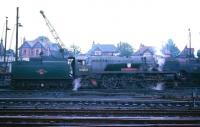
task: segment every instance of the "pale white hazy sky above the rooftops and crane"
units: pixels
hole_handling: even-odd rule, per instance
[[[140,43],[161,47],[172,38],[182,50],[188,44],[200,49],[200,0],[0,0],[0,35],[8,16],[8,43],[15,46],[12,32],[19,6],[19,41],[47,36],[54,41],[39,13],[43,10],[66,47],[75,44],[83,52],[92,42]],[[2,34],[3,33],[3,34]],[[9,44],[8,44],[9,45]],[[9,46],[8,46],[9,47]]]

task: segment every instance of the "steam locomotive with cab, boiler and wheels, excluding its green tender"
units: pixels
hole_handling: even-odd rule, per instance
[[[138,88],[174,82],[176,73],[158,71],[153,57],[90,56],[77,58],[76,78],[81,79],[82,87],[89,84],[107,89]]]

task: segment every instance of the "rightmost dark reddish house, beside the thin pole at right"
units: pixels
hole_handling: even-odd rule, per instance
[[[191,54],[190,54],[191,53]],[[194,57],[194,48],[188,48],[185,46],[183,51],[179,54],[179,58],[189,58],[189,57]]]

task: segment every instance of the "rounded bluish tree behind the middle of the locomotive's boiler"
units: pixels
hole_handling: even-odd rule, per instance
[[[129,57],[133,54],[133,48],[130,44],[126,42],[120,42],[117,44],[117,51],[120,53],[120,56]]]

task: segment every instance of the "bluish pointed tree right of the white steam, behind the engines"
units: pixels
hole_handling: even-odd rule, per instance
[[[177,48],[172,39],[168,39],[167,43],[162,47],[161,52],[163,54],[170,54],[172,57],[176,57],[180,53],[180,50]]]

